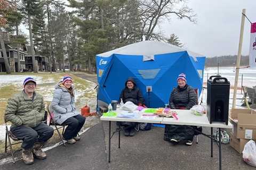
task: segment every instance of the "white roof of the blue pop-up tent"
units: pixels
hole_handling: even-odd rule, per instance
[[[185,48],[177,47],[169,43],[163,43],[159,41],[140,41],[139,43],[133,43],[124,47],[113,49],[106,53],[98,54],[98,56],[109,57],[112,54],[154,56],[157,54],[176,53],[184,51],[187,51],[188,55],[193,57],[195,61],[197,61],[196,57],[204,57],[204,55],[190,52]]]

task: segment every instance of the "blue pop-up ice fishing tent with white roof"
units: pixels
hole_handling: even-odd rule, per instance
[[[133,77],[148,107],[169,103],[177,77],[185,73],[187,83],[202,91],[205,56],[171,44],[141,41],[96,56],[98,100],[118,100],[125,81]],[[148,92],[148,89],[152,91]]]

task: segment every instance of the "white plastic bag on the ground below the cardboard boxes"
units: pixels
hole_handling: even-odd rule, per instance
[[[253,140],[247,142],[243,150],[244,162],[256,167],[256,143]]]

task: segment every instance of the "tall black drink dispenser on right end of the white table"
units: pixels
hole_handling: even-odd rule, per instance
[[[213,75],[207,80],[206,113],[210,123],[228,124],[230,83],[220,75]]]

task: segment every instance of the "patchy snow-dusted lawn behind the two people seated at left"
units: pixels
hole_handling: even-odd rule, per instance
[[[54,86],[57,84],[63,77],[63,75],[69,74],[73,78],[73,82],[76,89],[76,107],[77,111],[80,112],[80,108],[85,106],[90,99],[94,99],[96,97],[96,91],[93,90],[95,84],[89,81],[86,81],[82,78],[76,77],[72,73],[0,73],[0,75],[28,75],[29,77],[42,77],[43,83],[38,83],[36,87],[36,91],[44,97],[45,103],[51,102],[51,97],[53,96]],[[4,123],[4,112],[7,105],[7,101],[14,94],[20,92],[22,89],[22,84],[3,84],[0,87],[0,125]],[[95,106],[95,102],[91,100],[91,106]],[[86,125],[85,125],[86,126]],[[48,143],[54,144],[59,142],[60,138],[57,132],[54,131],[53,137],[49,140]],[[19,150],[20,145],[14,145],[14,150]],[[4,152],[4,141],[0,141],[0,153]]]

